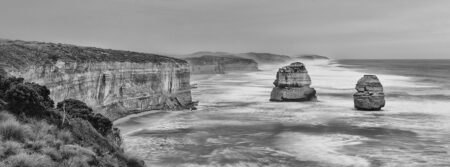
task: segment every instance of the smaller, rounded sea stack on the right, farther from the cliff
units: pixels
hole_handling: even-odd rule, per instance
[[[364,75],[356,84],[353,95],[355,108],[366,111],[379,111],[384,107],[383,85],[376,75]]]

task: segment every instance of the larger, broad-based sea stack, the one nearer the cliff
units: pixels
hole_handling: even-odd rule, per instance
[[[277,79],[273,82],[275,87],[270,94],[270,101],[315,101],[316,90],[310,88],[311,78],[305,65],[295,62],[280,68]]]

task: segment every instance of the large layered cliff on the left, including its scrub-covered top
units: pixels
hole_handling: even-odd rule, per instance
[[[82,100],[110,119],[191,104],[184,60],[128,51],[0,42],[0,71],[47,86],[56,102]]]

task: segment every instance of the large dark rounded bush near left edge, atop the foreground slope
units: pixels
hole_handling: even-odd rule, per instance
[[[37,116],[42,114],[45,106],[41,103],[42,97],[26,84],[13,85],[6,91],[5,100],[8,108],[15,114],[24,113],[26,115]]]

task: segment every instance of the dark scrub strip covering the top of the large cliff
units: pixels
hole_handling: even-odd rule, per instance
[[[12,66],[17,69],[31,64],[55,63],[57,60],[68,62],[187,63],[184,60],[149,53],[19,40],[0,40],[0,60],[2,60],[0,68]],[[4,71],[0,70],[0,75],[2,73]]]

